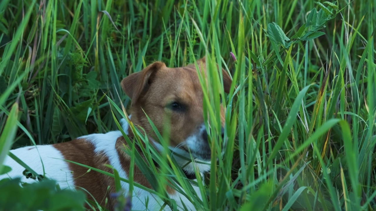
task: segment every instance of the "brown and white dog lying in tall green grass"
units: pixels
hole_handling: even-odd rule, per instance
[[[206,77],[205,57],[197,60],[197,64]],[[224,92],[228,93],[232,80],[223,69],[222,73]],[[180,155],[174,158],[188,179],[197,182],[195,168],[200,173],[209,172],[211,148],[203,118],[203,90],[194,64],[168,68],[163,62],[154,62],[142,71],[125,77],[121,81],[121,87],[131,99],[130,121],[136,127],[144,129],[151,145],[157,151],[162,150],[162,145],[156,141],[158,139],[155,139],[156,136],[145,113],[160,133],[164,129],[165,116],[168,114],[171,122],[169,148],[174,151],[174,154]],[[221,105],[220,111],[216,112],[220,112],[221,136],[223,137],[225,109]],[[120,123],[124,132],[132,140],[134,135],[127,122],[122,119]],[[11,150],[11,152],[36,173],[42,175],[45,173],[45,177],[57,181],[61,189],[84,188],[90,193],[87,194],[88,199],[96,200],[107,209],[114,209],[117,201],[110,197],[110,193],[116,192],[114,178],[94,170],[88,172],[87,168],[64,161],[64,159],[113,173],[112,169],[104,165],[110,164],[118,171],[121,178],[127,179],[130,156],[124,152],[124,145],[128,146],[122,133],[110,131],[105,134],[90,134],[53,145],[26,146]],[[137,150],[139,151],[139,147]],[[140,155],[143,155],[142,152]],[[187,158],[192,156],[194,162],[188,162],[182,156]],[[36,181],[23,176],[24,167],[9,156],[6,157],[4,164],[10,166],[12,170],[5,175],[0,175],[0,179],[21,177],[21,182]],[[134,167],[133,177],[134,182],[152,189],[149,181],[137,166]],[[129,184],[121,181],[121,188],[127,191]],[[193,189],[202,199],[199,187],[193,185]],[[190,200],[173,188],[167,186],[166,191],[170,199],[176,201],[178,209],[184,207],[190,210],[197,209]],[[134,187],[131,197],[132,210],[159,210],[164,204],[162,199],[155,194],[138,187]],[[169,206],[165,206],[164,209],[171,210]]]

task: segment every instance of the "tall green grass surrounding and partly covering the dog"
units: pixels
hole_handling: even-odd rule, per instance
[[[155,60],[175,67],[206,56],[204,113],[220,159],[201,187],[208,199],[186,190],[198,208],[376,209],[375,11],[373,1],[2,0],[0,163],[9,140],[17,148],[117,129],[121,102],[129,106],[122,78]],[[222,158],[215,63],[234,79],[222,95]],[[186,189],[170,155],[150,147],[149,166],[126,151],[155,184],[168,175]],[[150,191],[165,198],[160,187]]]

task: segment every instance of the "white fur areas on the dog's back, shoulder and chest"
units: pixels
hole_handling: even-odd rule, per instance
[[[129,116],[130,117],[130,116]],[[124,119],[120,121],[124,132],[127,133],[129,125]],[[119,176],[122,178],[127,179],[128,176],[126,172],[122,169],[120,160],[115,149],[115,143],[118,137],[122,136],[120,131],[111,131],[106,134],[90,134],[87,136],[82,136],[80,139],[85,139],[91,142],[96,153],[104,153],[109,161],[111,166],[113,166],[119,173]],[[160,146],[160,145],[159,145]],[[30,150],[29,150],[30,149]],[[180,150],[180,149],[179,149]],[[36,173],[43,175],[43,168],[42,162],[44,165],[45,176],[47,178],[54,179],[58,182],[62,189],[64,188],[74,188],[74,180],[73,174],[69,169],[68,163],[65,162],[63,159],[61,152],[58,151],[53,145],[37,145],[37,146],[27,146],[23,148],[18,148],[11,150],[11,152],[16,155],[20,160],[26,163],[31,169],[33,169]],[[179,151],[180,152],[180,151]],[[186,152],[184,152],[186,153]],[[189,158],[189,156],[188,156]],[[176,160],[179,163],[182,163],[181,158],[177,158]],[[25,170],[20,164],[14,161],[11,157],[7,156],[5,158],[6,166],[12,167],[11,172],[6,175],[0,175],[0,179],[9,177],[9,178],[16,178],[21,177],[22,182],[36,182],[34,179],[26,179],[23,176],[22,172]],[[205,165],[200,164],[199,167],[204,167]],[[206,165],[205,171],[210,168],[210,165]],[[192,167],[193,169],[193,167]],[[121,181],[121,187],[123,188],[125,193],[128,193],[129,184],[126,182]],[[194,190],[200,194],[199,187],[193,185]],[[148,210],[159,210],[163,205],[163,201],[156,196],[155,194],[151,194],[141,188],[134,187],[133,195],[132,195],[132,210],[146,210],[145,201],[149,198],[149,203],[147,205]],[[175,194],[170,195],[171,199],[174,199],[177,203],[179,209],[183,209],[182,204],[184,204],[188,209],[196,210],[193,204],[182,194],[175,191]],[[171,210],[169,206],[165,206],[164,210]]]

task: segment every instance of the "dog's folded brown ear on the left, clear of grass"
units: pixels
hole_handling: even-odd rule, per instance
[[[154,62],[142,71],[132,73],[121,81],[123,91],[132,99],[131,105],[134,105],[141,93],[147,90],[155,72],[165,66],[163,62]]]

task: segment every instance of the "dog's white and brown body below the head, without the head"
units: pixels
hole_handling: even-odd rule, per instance
[[[123,119],[121,123],[123,130],[128,131],[127,122]],[[121,178],[128,179],[129,164],[127,166],[127,163],[130,163],[130,158],[122,152],[123,144],[126,142],[121,132],[111,131],[105,134],[90,134],[55,145],[27,146],[11,150],[11,152],[36,173],[43,174],[44,167],[45,177],[55,180],[61,189],[85,188],[103,206],[107,197],[106,207],[111,210],[116,203],[116,199],[110,197],[110,193],[116,192],[114,179],[94,170],[87,172],[87,168],[66,162],[64,159],[112,173],[111,169],[103,166],[103,164],[109,164],[118,171]],[[21,182],[36,182],[35,179],[22,175],[25,168],[9,156],[6,157],[4,164],[11,166],[12,170],[7,175],[0,175],[0,179],[21,177]],[[134,181],[152,189],[146,178],[136,168]],[[107,189],[108,187],[109,189]],[[121,181],[121,188],[129,190],[129,184]],[[163,205],[162,199],[155,194],[138,187],[133,188],[132,210],[159,210]],[[197,186],[193,186],[193,188],[200,193]],[[195,210],[193,204],[185,196],[171,188],[167,189],[170,190],[170,193],[167,191],[168,196],[176,200],[180,209],[184,204],[188,209]],[[89,197],[91,200],[94,200],[93,198]],[[170,207],[165,206],[164,210],[170,210]]]

